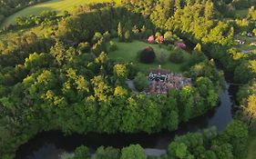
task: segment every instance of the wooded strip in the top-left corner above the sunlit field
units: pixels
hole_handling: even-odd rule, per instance
[[[5,18],[9,15],[15,14],[15,12],[30,6],[36,5],[47,0],[2,0],[0,1],[0,24],[5,21]]]

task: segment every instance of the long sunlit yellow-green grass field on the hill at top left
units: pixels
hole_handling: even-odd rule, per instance
[[[26,7],[14,15],[10,15],[5,19],[5,22],[1,25],[1,27],[4,25],[15,24],[15,18],[18,16],[39,15],[42,11],[45,10],[56,11],[58,15],[61,15],[66,10],[71,12],[77,5],[98,2],[110,2],[110,0],[51,0],[42,4]],[[115,2],[117,2],[119,5],[121,0],[115,0]]]

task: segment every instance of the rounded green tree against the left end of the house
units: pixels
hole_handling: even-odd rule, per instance
[[[148,87],[147,76],[142,73],[138,73],[134,78],[134,86],[139,92],[144,91]]]

